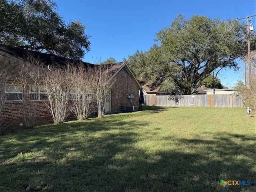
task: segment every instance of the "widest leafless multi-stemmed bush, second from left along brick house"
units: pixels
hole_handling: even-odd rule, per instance
[[[53,66],[45,73],[44,85],[48,96],[47,105],[55,124],[63,123],[70,111],[68,102],[70,100],[70,67]]]

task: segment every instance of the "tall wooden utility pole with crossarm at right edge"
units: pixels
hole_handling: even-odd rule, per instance
[[[247,46],[248,46],[248,74],[249,74],[249,88],[252,86],[252,69],[251,69],[251,54],[250,54],[250,28],[249,28],[249,18],[254,17],[256,15],[246,16],[244,18],[236,19],[247,19]],[[247,86],[246,82],[246,62],[244,63],[244,80],[245,86]]]

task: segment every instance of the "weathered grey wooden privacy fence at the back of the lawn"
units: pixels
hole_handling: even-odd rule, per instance
[[[178,102],[169,95],[144,95],[144,104],[148,106],[198,106],[198,107],[242,107],[243,99],[234,94],[219,95],[182,95]]]

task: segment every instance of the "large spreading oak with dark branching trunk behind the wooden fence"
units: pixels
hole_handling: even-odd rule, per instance
[[[174,82],[182,94],[192,94],[214,70],[238,69],[236,59],[247,54],[246,25],[237,20],[179,15],[156,36],[164,57],[180,68]]]

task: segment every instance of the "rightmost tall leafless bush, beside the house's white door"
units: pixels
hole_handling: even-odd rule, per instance
[[[105,112],[105,103],[108,90],[112,87],[115,79],[109,70],[109,65],[97,65],[90,70],[92,75],[92,87],[94,93],[94,101],[97,103],[98,117],[102,117]]]

